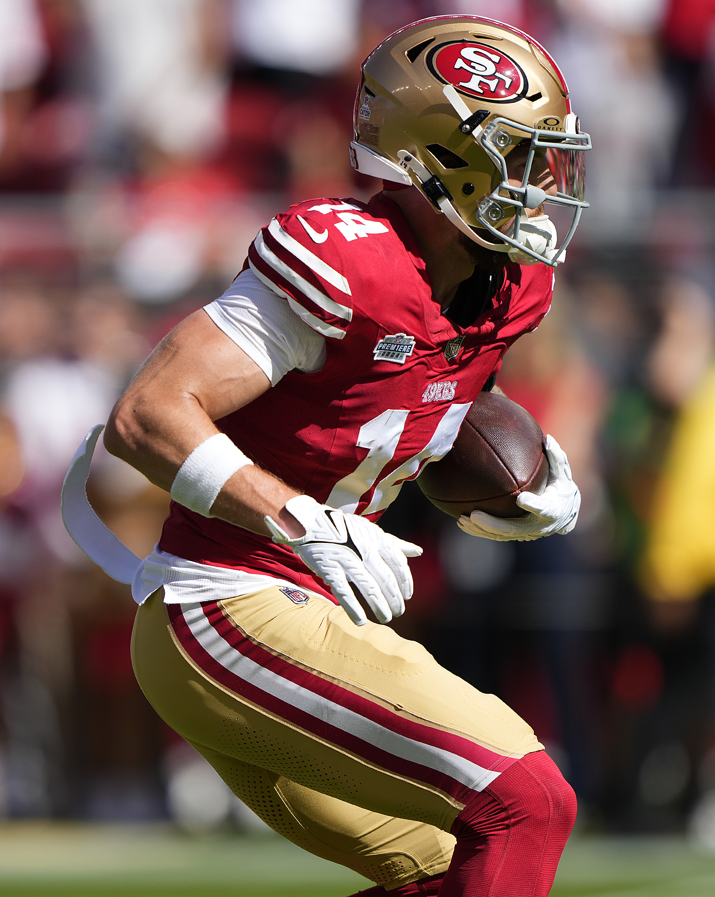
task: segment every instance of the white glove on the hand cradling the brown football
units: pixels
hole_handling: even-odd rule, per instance
[[[541,536],[558,533],[565,536],[576,526],[581,507],[581,492],[571,477],[571,467],[564,449],[553,436],[545,444],[548,458],[547,488],[541,495],[521,492],[516,499],[520,508],[530,511],[524,517],[492,517],[483,510],[462,516],[457,526],[469,536],[496,539],[499,542],[530,542]]]

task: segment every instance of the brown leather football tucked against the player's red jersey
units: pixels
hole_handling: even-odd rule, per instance
[[[495,517],[521,517],[520,492],[546,489],[544,434],[534,418],[499,393],[479,393],[452,449],[426,465],[419,487],[452,517],[485,510]]]

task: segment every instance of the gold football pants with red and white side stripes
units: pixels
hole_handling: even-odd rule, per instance
[[[455,823],[467,852],[483,853],[461,816],[487,794],[473,777],[495,788],[541,755],[502,701],[327,601],[295,605],[278,588],[202,605],[161,598],[139,608],[132,650],[159,715],[272,829],[389,893],[435,893]],[[482,893],[465,890],[459,856],[468,881],[460,873],[450,893]]]

